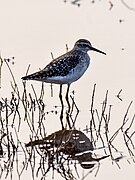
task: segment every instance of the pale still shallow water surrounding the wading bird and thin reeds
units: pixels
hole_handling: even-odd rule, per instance
[[[58,169],[53,171],[51,168],[44,178],[48,156],[44,159],[46,154],[38,147],[25,147],[30,141],[61,130],[59,86],[53,85],[51,97],[50,84],[44,84],[44,91],[41,91],[42,83],[29,81],[23,98],[21,77],[25,75],[29,64],[29,73],[42,69],[52,59],[50,52],[57,57],[65,53],[66,43],[71,49],[80,38],[89,39],[93,46],[105,51],[107,56],[90,52],[90,68],[70,88],[69,101],[73,106],[70,113],[67,113],[68,106],[64,98],[66,86],[63,87],[63,123],[68,128],[69,119],[71,125],[92,141],[93,157],[110,157],[101,160],[100,164],[96,162],[94,169],[86,170],[80,167],[77,160],[66,161],[63,158],[67,158],[67,154],[61,154],[59,157],[62,162],[65,160],[63,164],[67,170],[65,176],[70,179],[72,175],[76,179],[96,176],[97,180],[101,180],[114,179],[115,174],[117,179],[133,179],[134,11],[127,9],[121,2],[114,4],[111,11],[108,2],[91,4],[82,1],[79,8],[63,1],[3,1],[0,4],[1,56],[11,59],[8,65],[19,89],[18,96],[9,68],[4,62],[0,89],[3,105],[0,111],[3,149],[0,158],[1,179],[63,179],[62,167],[57,164],[57,159],[54,159],[54,167]],[[124,21],[120,23],[119,19]]]

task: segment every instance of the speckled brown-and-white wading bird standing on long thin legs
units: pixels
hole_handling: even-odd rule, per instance
[[[53,59],[43,70],[26,75],[22,79],[60,84],[60,99],[62,85],[67,84],[66,100],[69,105],[68,92],[70,85],[81,78],[89,67],[90,56],[88,51],[96,51],[106,55],[105,52],[93,47],[87,39],[79,39],[75,42],[72,50]]]

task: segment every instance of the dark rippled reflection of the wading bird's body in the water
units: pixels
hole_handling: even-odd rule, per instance
[[[55,155],[67,158],[67,161],[77,160],[82,168],[90,169],[100,160],[107,158],[103,156],[101,158],[93,157],[93,144],[90,139],[79,130],[59,130],[51,135],[35,141],[30,141],[26,144],[26,147],[33,147],[39,145],[40,150],[51,155],[51,158]],[[64,157],[64,155],[68,155]],[[61,160],[58,161],[61,163]]]

